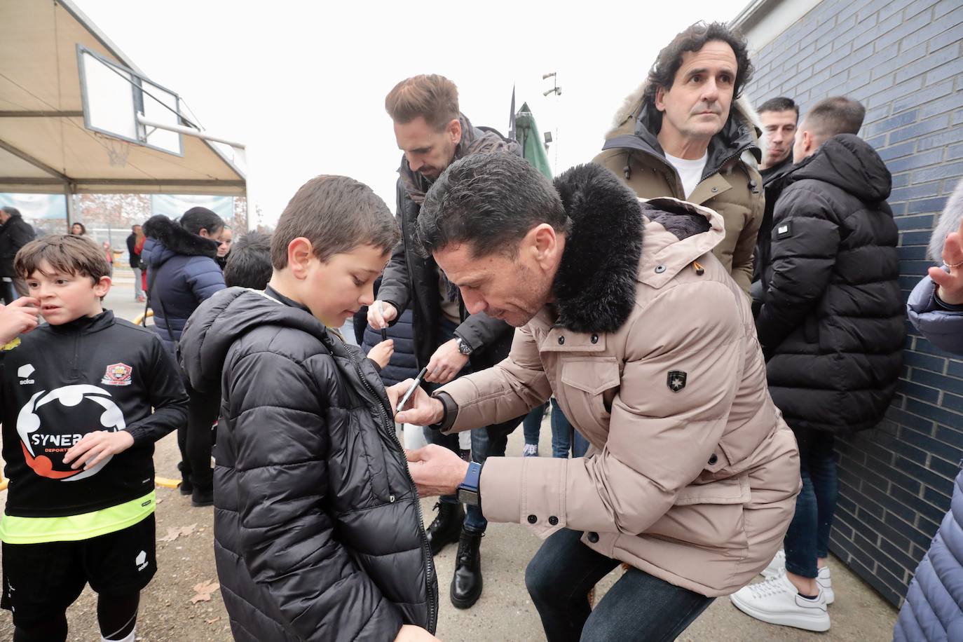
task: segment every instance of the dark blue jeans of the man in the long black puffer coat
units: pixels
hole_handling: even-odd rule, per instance
[[[803,578],[819,574],[816,558],[829,554],[829,529],[833,525],[839,478],[833,458],[832,433],[796,431],[802,491],[795,500],[795,515],[783,542],[786,570]]]

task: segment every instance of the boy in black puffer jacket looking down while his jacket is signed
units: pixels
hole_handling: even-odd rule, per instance
[[[181,339],[221,389],[215,559],[234,639],[434,640],[418,492],[372,362],[336,331],[374,300],[397,223],[368,187],[319,176],[273,234],[265,292],[230,288]]]

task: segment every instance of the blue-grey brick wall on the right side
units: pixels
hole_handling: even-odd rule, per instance
[[[861,136],[893,173],[904,299],[931,265],[930,229],[963,178],[961,54],[960,0],[823,0],[753,54],[757,105],[785,95],[805,113],[846,94],[866,106]],[[837,442],[831,536],[832,551],[894,604],[950,506],[963,459],[963,362],[907,326],[886,420]]]

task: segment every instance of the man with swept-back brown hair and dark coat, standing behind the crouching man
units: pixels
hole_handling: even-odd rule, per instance
[[[396,213],[402,243],[384,270],[378,300],[368,309],[368,323],[379,329],[396,322],[405,309],[412,310],[415,356],[419,368],[428,369],[425,381],[433,389],[459,374],[489,368],[504,359],[513,330],[505,321],[483,313],[469,314],[458,289],[434,260],[417,252],[412,233],[425,194],[458,159],[495,151],[521,156],[521,147],[493,129],[473,126],[458,109],[455,83],[437,74],[403,80],[388,93],[384,107],[394,121],[395,139],[403,151]],[[508,433],[521,420],[518,417],[472,431],[472,460],[481,463],[489,454],[504,455]],[[458,451],[457,435],[426,428],[425,438]],[[431,552],[437,554],[445,545],[458,542],[451,599],[455,607],[468,608],[481,596],[479,549],[487,522],[478,506],[463,511],[454,495],[443,497],[438,508],[438,516],[428,527]]]

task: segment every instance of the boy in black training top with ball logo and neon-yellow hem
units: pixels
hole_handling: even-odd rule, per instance
[[[48,325],[0,351],[10,478],[0,520],[2,606],[14,642],[66,640],[65,611],[90,582],[103,640],[132,642],[154,559],[154,442],[184,422],[187,396],[152,331],[101,307],[110,266],[90,241],[46,236],[14,262]],[[152,410],[153,408],[153,410]]]

